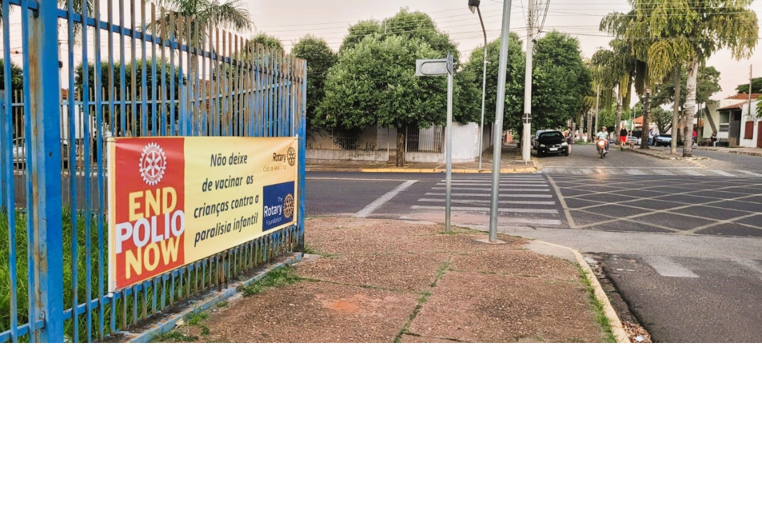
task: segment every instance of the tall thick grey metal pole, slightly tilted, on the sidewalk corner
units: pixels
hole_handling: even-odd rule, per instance
[[[505,114],[505,75],[508,72],[508,40],[511,37],[511,0],[503,1],[503,31],[500,36],[498,98],[495,104],[495,149],[492,153],[492,198],[489,213],[489,241],[498,241],[498,205],[500,203],[500,167],[503,159],[503,116]]]

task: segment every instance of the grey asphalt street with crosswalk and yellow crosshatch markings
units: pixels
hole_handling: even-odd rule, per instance
[[[501,232],[596,253],[657,342],[762,342],[762,158],[592,146],[502,175]],[[453,223],[488,227],[488,173],[453,176]],[[309,216],[441,222],[444,175],[309,172]]]

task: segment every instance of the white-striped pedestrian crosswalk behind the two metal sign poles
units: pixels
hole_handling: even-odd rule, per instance
[[[453,175],[453,215],[488,217],[491,175]],[[442,179],[412,206],[414,213],[443,212],[447,182]],[[498,201],[501,225],[553,227],[562,225],[562,211],[544,175],[501,175]],[[488,220],[487,220],[488,222]]]

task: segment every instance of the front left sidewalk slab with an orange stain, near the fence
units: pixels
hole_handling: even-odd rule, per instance
[[[394,342],[415,294],[299,282],[239,300],[210,318],[212,341]]]

